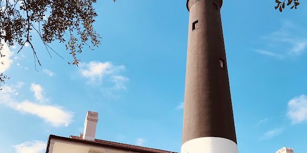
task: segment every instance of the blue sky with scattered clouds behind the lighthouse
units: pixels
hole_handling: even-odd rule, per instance
[[[79,67],[64,44],[51,53],[6,48],[10,80],[0,92],[0,152],[45,152],[50,134],[83,132],[99,113],[96,138],[180,152],[188,34],[185,0],[98,1],[95,50]],[[304,152],[307,145],[307,5],[279,12],[272,1],[224,1],[221,9],[239,152]],[[56,113],[55,113],[56,112]]]

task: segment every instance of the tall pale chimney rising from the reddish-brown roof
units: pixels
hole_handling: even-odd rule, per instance
[[[84,121],[83,139],[95,141],[96,124],[98,121],[98,113],[87,111]]]

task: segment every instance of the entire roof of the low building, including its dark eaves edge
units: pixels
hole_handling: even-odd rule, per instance
[[[49,136],[47,150],[49,150],[51,138],[61,139],[61,140],[66,140],[66,141],[73,141],[73,142],[84,143],[84,144],[95,145],[95,146],[126,150],[126,151],[140,152],[140,153],[178,153],[178,152],[147,148],[147,147],[142,147],[142,146],[136,146],[136,145],[130,145],[130,144],[124,144],[124,143],[118,143],[118,142],[112,142],[112,141],[105,141],[105,140],[99,140],[99,139],[95,139],[95,141],[93,141],[93,140],[85,140],[82,137],[78,137],[78,136],[70,136],[70,138],[66,138],[66,137],[60,137],[60,136],[55,136],[55,135]],[[47,150],[46,150],[46,153],[49,152]]]

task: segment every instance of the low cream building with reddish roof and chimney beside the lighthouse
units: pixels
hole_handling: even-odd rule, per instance
[[[142,146],[95,139],[98,113],[88,111],[84,122],[84,132],[70,138],[50,135],[46,153],[177,153]]]

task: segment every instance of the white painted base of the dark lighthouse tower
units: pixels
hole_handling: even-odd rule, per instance
[[[229,139],[202,137],[185,142],[181,153],[238,153],[238,147]]]

